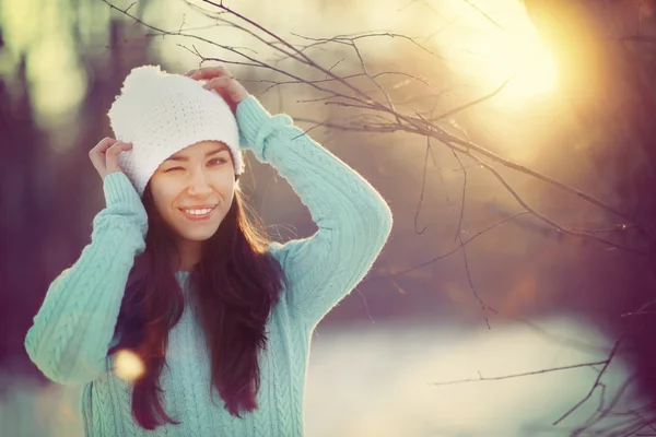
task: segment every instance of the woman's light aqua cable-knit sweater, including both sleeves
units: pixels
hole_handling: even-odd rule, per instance
[[[122,173],[105,178],[106,208],[93,221],[91,243],[49,286],[25,347],[49,379],[80,385],[85,434],[93,437],[235,437],[303,435],[303,391],[311,336],[320,319],[371,269],[391,228],[390,211],[360,175],[335,157],[285,115],[271,116],[250,96],[237,107],[242,144],[272,165],[308,208],[318,232],[273,243],[289,286],[267,321],[259,354],[259,408],[237,418],[221,398],[210,398],[210,363],[202,332],[185,309],[171,330],[161,375],[163,405],[180,425],[153,432],[131,415],[130,382],[107,357],[134,256],[143,251],[148,220]],[[176,272],[183,291],[188,273]]]

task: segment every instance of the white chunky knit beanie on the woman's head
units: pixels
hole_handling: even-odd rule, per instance
[[[237,121],[227,103],[202,83],[159,66],[130,71],[107,114],[118,141],[132,143],[118,164],[139,196],[160,164],[199,141],[222,141],[235,174],[244,170]]]

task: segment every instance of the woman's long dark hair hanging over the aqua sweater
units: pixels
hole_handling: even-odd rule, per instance
[[[190,272],[191,308],[200,321],[211,357],[211,383],[227,411],[257,409],[258,351],[265,349],[265,323],[285,284],[278,261],[266,251],[270,240],[239,190],[216,233],[203,243]],[[133,382],[132,415],[145,429],[179,424],[164,411],[160,375],[168,331],[179,321],[184,294],[172,268],[177,256],[172,231],[154,208],[150,185],[143,194],[149,216],[145,250],[136,257],[115,330],[119,350],[136,353],[144,374]],[[213,393],[213,390],[212,390]]]

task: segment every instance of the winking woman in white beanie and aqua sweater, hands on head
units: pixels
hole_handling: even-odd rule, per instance
[[[366,274],[391,214],[380,196],[221,67],[137,68],[90,153],[106,200],[25,339],[78,383],[86,435],[302,436],[311,336]],[[119,141],[120,140],[120,141]],[[270,241],[237,180],[272,165],[318,232]],[[121,376],[120,357],[142,366]]]

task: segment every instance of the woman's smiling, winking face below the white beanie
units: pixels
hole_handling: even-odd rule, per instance
[[[218,141],[201,141],[173,154],[150,179],[155,209],[180,243],[214,235],[235,186],[230,149]]]

